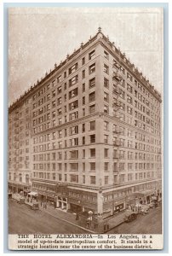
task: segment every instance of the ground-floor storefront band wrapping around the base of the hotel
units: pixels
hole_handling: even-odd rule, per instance
[[[162,197],[161,180],[101,189],[35,181],[32,189],[40,201],[54,204],[55,208],[75,213],[91,211],[103,218]]]

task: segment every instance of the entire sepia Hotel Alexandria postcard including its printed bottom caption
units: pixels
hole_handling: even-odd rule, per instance
[[[163,249],[163,8],[8,12],[9,249]]]

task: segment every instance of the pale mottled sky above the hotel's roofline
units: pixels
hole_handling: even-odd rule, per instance
[[[9,9],[9,104],[98,27],[163,93],[163,13],[158,8]]]

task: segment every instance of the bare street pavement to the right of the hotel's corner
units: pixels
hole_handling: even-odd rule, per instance
[[[162,207],[150,209],[146,215],[138,215],[129,223],[120,224],[108,231],[109,234],[161,234]]]

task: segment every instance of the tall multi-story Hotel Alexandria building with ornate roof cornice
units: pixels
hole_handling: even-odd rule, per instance
[[[161,102],[99,28],[9,108],[9,185],[100,215],[161,196]]]

